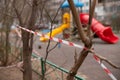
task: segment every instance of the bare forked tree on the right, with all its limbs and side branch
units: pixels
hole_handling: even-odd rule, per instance
[[[91,47],[92,47],[92,37],[93,36],[90,33],[90,25],[92,23],[92,17],[93,17],[93,14],[94,14],[94,8],[95,8],[95,5],[96,5],[96,1],[97,0],[93,0],[93,3],[92,3],[91,0],[90,0],[89,21],[88,21],[88,26],[87,26],[87,31],[88,31],[87,34],[88,35],[85,35],[84,32],[83,32],[83,29],[82,29],[81,22],[79,20],[79,16],[78,16],[77,11],[75,9],[73,0],[68,0],[68,2],[70,4],[70,9],[72,11],[75,23],[76,23],[77,28],[78,28],[78,34],[79,34],[82,42],[84,43],[84,49],[80,52],[79,57],[75,58],[75,64],[73,65],[73,67],[69,71],[69,74],[67,76],[67,80],[74,80],[74,76],[77,74],[78,69],[80,68],[80,66],[84,62],[84,60],[87,57],[87,55],[88,55],[89,52],[92,53],[92,54],[94,54],[94,55],[96,55],[98,58],[100,58],[100,60],[106,61],[107,63],[109,63],[114,68],[120,69],[120,67],[115,66],[110,61],[108,61],[106,58],[103,58],[100,55],[95,54],[95,52],[91,50]],[[91,3],[92,3],[92,5],[91,5]]]

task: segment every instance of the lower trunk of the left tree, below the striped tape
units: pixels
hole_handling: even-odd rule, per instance
[[[23,80],[32,80],[31,54],[32,49],[29,46],[30,33],[22,31],[23,36]]]

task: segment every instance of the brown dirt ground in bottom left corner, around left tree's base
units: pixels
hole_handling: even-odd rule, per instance
[[[23,80],[22,72],[16,67],[0,69],[0,80]],[[33,80],[39,80],[38,75],[33,72]]]

